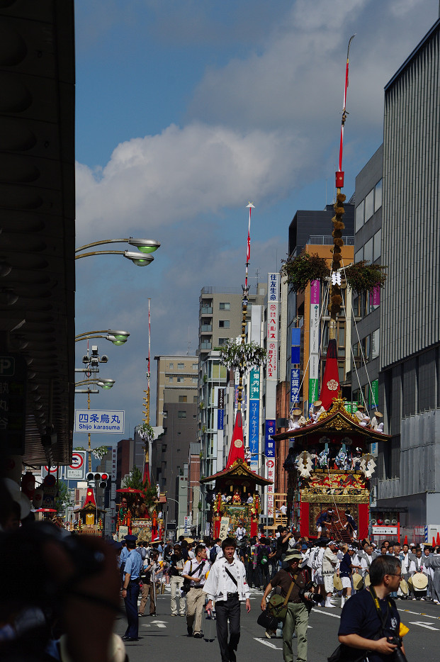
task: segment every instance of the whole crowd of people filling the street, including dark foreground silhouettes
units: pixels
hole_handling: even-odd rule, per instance
[[[129,535],[122,542],[105,542],[27,521],[16,501],[4,495],[5,503],[9,507],[3,508],[0,521],[1,560],[7,568],[0,600],[0,648],[6,661],[123,662],[124,643],[112,632],[121,598],[127,618],[122,639],[130,642],[139,638],[140,618],[157,614],[157,595],[164,594],[169,595],[169,607],[162,600],[160,615],[165,607],[165,615],[169,610],[171,617],[184,618],[182,634],[193,639],[202,638],[205,615],[215,615],[211,622],[222,662],[235,662],[240,603],[249,611],[252,593],[255,597],[262,592],[264,611],[278,592],[286,600],[286,613],[265,634],[283,637],[285,662],[293,662],[295,637],[298,661],[307,660],[312,599],[320,600],[325,609],[343,607],[341,644],[368,647],[377,653],[373,662],[379,662],[396,647],[403,651],[393,598],[440,604],[439,547],[358,542],[355,529],[349,544],[329,539],[328,512],[317,527],[320,537],[313,540],[283,526],[271,537],[261,530],[251,538],[240,522],[223,541],[181,537],[174,543],[149,543]],[[13,580],[11,590],[11,577],[20,577],[23,567],[33,581],[20,588]],[[380,625],[384,605],[388,607],[382,630],[387,634],[378,638],[373,629]],[[368,623],[362,620],[366,613]],[[92,633],[84,628],[87,619],[98,625]],[[372,639],[380,643],[372,644]]]

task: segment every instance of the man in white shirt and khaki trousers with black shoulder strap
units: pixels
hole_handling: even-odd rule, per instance
[[[210,563],[206,560],[205,546],[197,545],[196,558],[188,559],[182,571],[182,577],[191,582],[191,588],[186,593],[186,631],[188,632],[188,636],[195,636],[196,639],[201,639],[203,636],[202,613],[205,593],[202,589],[209,568]]]

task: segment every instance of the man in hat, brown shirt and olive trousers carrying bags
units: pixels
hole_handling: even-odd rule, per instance
[[[286,617],[283,620],[283,658],[284,662],[293,662],[293,649],[292,639],[293,632],[296,632],[298,637],[298,662],[307,662],[307,629],[309,623],[309,614],[312,608],[312,602],[305,600],[305,591],[308,590],[311,583],[310,570],[307,566],[300,568],[300,563],[303,557],[298,549],[289,551],[286,554],[284,561],[286,568],[278,571],[271,579],[264,591],[263,598],[261,599],[261,611],[266,610],[266,598],[273,588],[276,586],[281,587],[281,597],[287,600]],[[311,597],[314,588],[305,593]]]

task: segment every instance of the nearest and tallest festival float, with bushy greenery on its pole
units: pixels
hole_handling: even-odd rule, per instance
[[[332,264],[325,258],[302,252],[283,264],[283,276],[295,292],[305,291],[312,281],[315,286],[327,285],[329,298],[329,344],[320,397],[312,403],[308,413],[300,404],[290,412],[290,430],[273,435],[273,439],[290,439],[284,468],[288,471],[288,506],[293,524],[302,536],[317,536],[317,519],[329,508],[327,529],[332,537],[351,539],[357,529],[359,539],[368,535],[370,478],[376,463],[369,452],[373,442],[388,442],[383,434],[382,414],[364,413],[367,403],[352,405],[342,398],[337,362],[337,319],[343,306],[342,288],[351,287],[357,293],[371,296],[385,284],[385,267],[366,261],[344,266],[342,260],[342,231],[346,196],[342,193],[342,147],[346,122],[346,90],[349,74],[349,49],[346,57],[344,104],[339,143],[339,170],[336,172],[336,201],[332,218]],[[354,413],[351,413],[352,410]],[[354,520],[354,521],[353,521]]]

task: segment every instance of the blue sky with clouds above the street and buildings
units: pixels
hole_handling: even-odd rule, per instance
[[[131,333],[124,347],[98,343],[110,357],[101,375],[116,384],[91,400],[124,409],[127,436],[142,421],[147,298],[152,356],[186,354],[188,334],[195,352],[201,287],[243,281],[247,202],[251,275],[279,268],[290,220],[325,206],[326,183],[332,202],[350,36],[348,197],[382,141],[383,86],[438,9],[437,0],[77,0],[77,245],[162,242],[143,269],[115,256],[77,261],[77,333]],[[153,422],[154,405],[153,388]]]

